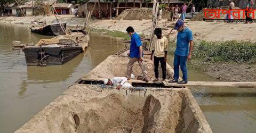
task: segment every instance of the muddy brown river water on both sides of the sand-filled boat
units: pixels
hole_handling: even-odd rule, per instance
[[[12,41],[36,43],[51,38],[30,32],[28,26],[0,23],[0,132],[13,132],[71,84],[110,54],[124,48],[121,40],[90,34],[90,48],[64,65],[27,66]],[[172,64],[173,57],[169,56]],[[193,69],[191,81],[218,81]],[[256,90],[244,88],[191,88],[213,132],[255,132]]]

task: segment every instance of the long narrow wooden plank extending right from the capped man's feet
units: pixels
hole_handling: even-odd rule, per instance
[[[256,88],[256,82],[212,82],[212,81],[188,81],[188,84],[180,85],[163,81],[169,87],[235,87],[235,88]]]

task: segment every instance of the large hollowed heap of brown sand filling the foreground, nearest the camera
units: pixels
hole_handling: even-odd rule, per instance
[[[15,132],[211,132],[189,89],[126,91],[70,86]]]

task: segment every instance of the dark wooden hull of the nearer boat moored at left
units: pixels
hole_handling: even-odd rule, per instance
[[[26,47],[24,48],[27,65],[38,65],[42,57],[45,65],[62,65],[82,53],[82,46],[74,47]],[[43,56],[41,56],[43,52]]]

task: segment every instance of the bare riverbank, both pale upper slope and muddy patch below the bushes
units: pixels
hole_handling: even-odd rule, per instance
[[[61,22],[66,22],[67,26],[83,26],[83,18],[75,18],[73,15],[59,15]],[[49,23],[56,22],[55,16],[27,16],[27,17],[5,17],[0,18],[0,22],[29,24],[31,20],[37,19]],[[194,34],[195,41],[226,41],[226,40],[245,40],[256,41],[256,24],[243,23],[223,23],[223,22],[198,22],[187,21]],[[158,26],[163,28],[163,34],[170,32],[174,22],[159,21]],[[143,37],[150,35],[151,20],[91,20],[91,31],[99,32],[102,35],[108,35],[124,40],[130,39],[125,29],[128,26],[134,27],[135,31]],[[175,49],[175,37],[177,31],[172,31],[170,40],[170,51]],[[227,44],[229,45],[229,44]],[[206,61],[198,57],[193,57],[188,62],[192,68],[205,72],[209,76],[220,79],[221,81],[254,81],[256,79],[256,64],[250,62],[226,62],[226,61]]]

